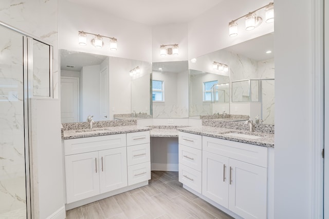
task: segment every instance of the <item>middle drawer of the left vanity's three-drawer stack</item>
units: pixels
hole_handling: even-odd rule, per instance
[[[150,143],[127,147],[128,166],[149,162],[150,160]]]

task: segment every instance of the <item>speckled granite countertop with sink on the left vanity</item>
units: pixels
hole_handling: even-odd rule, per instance
[[[81,137],[94,137],[101,135],[110,135],[110,134],[123,134],[139,131],[149,131],[150,127],[143,126],[112,126],[112,127],[102,127],[102,128],[93,128],[93,129],[72,129],[63,131],[63,140],[72,139],[72,138],[81,138]]]

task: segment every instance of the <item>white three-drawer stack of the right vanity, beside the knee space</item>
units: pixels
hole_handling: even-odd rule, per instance
[[[201,193],[202,189],[202,136],[179,132],[178,180]]]

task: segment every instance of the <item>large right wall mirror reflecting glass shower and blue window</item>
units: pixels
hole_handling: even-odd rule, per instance
[[[269,33],[189,63],[190,117],[223,113],[274,124],[275,65]],[[229,101],[225,102],[229,96]]]

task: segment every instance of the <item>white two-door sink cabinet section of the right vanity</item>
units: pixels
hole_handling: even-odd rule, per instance
[[[266,218],[267,148],[203,136],[202,194],[243,218]]]

